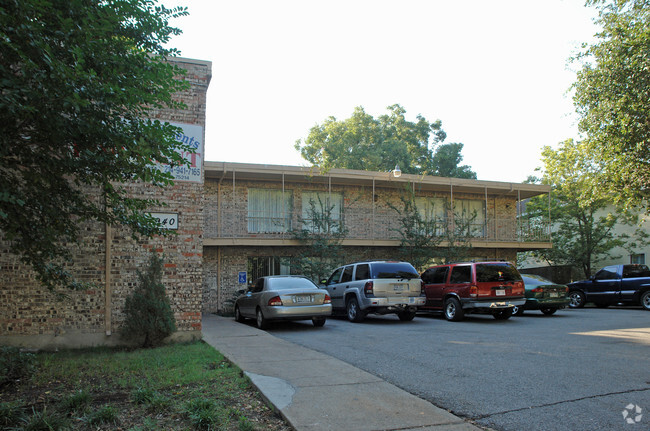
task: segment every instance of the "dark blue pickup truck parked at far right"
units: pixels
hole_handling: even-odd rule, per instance
[[[611,265],[588,280],[569,283],[569,307],[587,302],[597,307],[641,305],[650,311],[650,269],[646,265]]]

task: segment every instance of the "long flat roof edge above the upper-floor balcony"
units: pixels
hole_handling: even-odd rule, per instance
[[[358,185],[401,188],[412,183],[417,190],[449,191],[455,193],[480,193],[513,196],[521,199],[547,194],[551,187],[541,184],[521,184],[499,181],[468,180],[464,178],[435,177],[432,175],[402,174],[392,172],[357,171],[353,169],[330,169],[321,171],[310,166],[285,166],[232,162],[205,162],[206,179],[220,181],[272,181],[285,183],[316,183],[324,185]]]

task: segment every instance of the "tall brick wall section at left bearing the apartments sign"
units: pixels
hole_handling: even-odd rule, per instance
[[[70,270],[96,288],[65,292],[57,298],[39,285],[34,273],[12,254],[0,235],[0,345],[55,348],[119,344],[117,331],[123,321],[126,297],[137,283],[150,251],[162,252],[163,282],[176,318],[177,338],[201,334],[203,284],[203,141],[206,92],[211,63],[175,58],[187,73],[191,88],[177,95],[187,108],[160,110],[153,117],[183,129],[179,140],[192,142],[196,153],[188,156],[194,166],[177,168],[176,184],[160,190],[142,183],[128,186],[137,197],[157,198],[167,206],[150,208],[160,218],[172,220],[178,235],[134,241],[127,229],[89,223],[82,229],[79,247],[73,247]]]

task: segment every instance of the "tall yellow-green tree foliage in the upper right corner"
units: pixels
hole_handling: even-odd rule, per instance
[[[594,181],[625,203],[643,202],[650,188],[650,1],[587,4],[598,8],[602,31],[577,57],[583,66],[574,103],[586,151],[599,166]]]

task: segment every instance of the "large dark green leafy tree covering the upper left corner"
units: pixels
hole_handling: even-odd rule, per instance
[[[188,86],[164,44],[185,14],[151,0],[2,3],[0,232],[46,286],[79,286],[64,264],[84,221],[165,233],[143,213],[159,203],[120,184],[172,184],[159,166],[192,151],[152,119],[183,106],[173,95]]]

